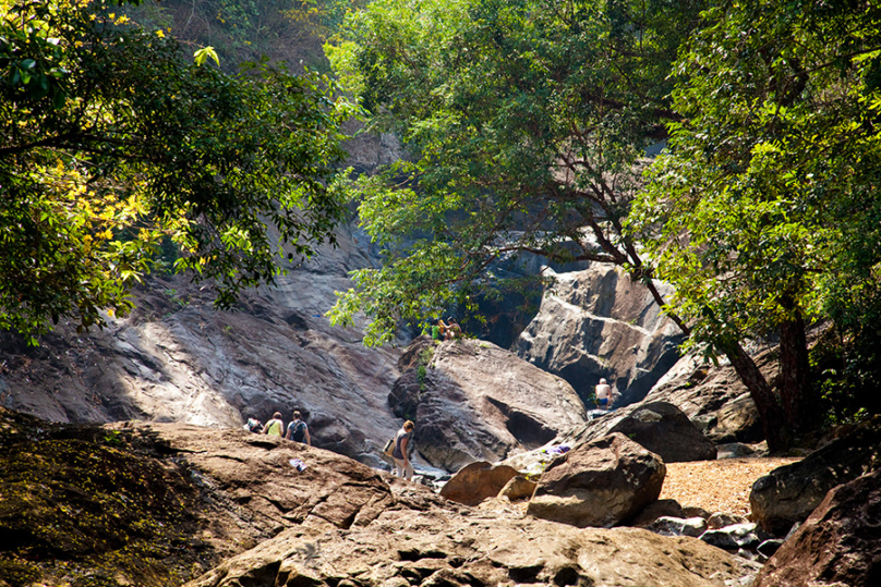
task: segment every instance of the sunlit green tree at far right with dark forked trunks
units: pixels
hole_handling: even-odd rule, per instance
[[[881,11],[747,1],[705,19],[677,65],[685,120],[630,222],[691,342],[732,358],[777,450],[811,419],[806,328],[858,333],[878,316]],[[769,338],[779,394],[741,346]]]

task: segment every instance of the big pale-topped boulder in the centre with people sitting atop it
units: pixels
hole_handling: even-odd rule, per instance
[[[388,400],[396,415],[417,423],[414,443],[435,467],[496,462],[587,418],[566,381],[492,343],[458,340],[426,348],[423,375],[407,370]]]

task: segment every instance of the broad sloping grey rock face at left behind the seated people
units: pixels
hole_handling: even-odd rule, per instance
[[[216,311],[207,290],[155,278],[125,319],[89,334],[60,325],[38,348],[0,339],[0,404],[61,423],[123,419],[231,428],[253,412],[305,416],[313,443],[378,465],[399,421],[387,394],[399,352],[365,348],[322,315],[346,272],[369,266],[369,239],[340,228],[339,246],[291,268],[277,288]]]

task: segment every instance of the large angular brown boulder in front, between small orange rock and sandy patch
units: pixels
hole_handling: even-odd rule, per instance
[[[579,528],[615,526],[657,499],[665,475],[657,455],[614,432],[553,461],[527,513]]]

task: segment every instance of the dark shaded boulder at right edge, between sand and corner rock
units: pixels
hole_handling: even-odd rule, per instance
[[[881,468],[879,445],[881,419],[876,418],[759,478],[749,494],[753,519],[771,534],[785,535],[810,515],[830,489]]]

